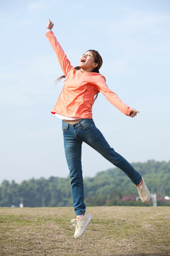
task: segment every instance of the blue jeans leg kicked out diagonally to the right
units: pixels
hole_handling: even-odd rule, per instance
[[[94,122],[89,129],[84,129],[84,123],[82,122],[81,129],[81,139],[86,142],[86,144],[89,144],[89,146],[98,151],[98,153],[104,156],[108,161],[124,171],[135,185],[138,185],[141,182],[142,176],[135,171],[123,156],[111,148],[103,137],[103,134],[101,134],[101,132],[96,128]]]

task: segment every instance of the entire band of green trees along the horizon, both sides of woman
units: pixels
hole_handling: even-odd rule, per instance
[[[170,206],[164,196],[170,196],[170,161],[150,160],[132,163],[145,177],[151,193],[157,193],[158,206]],[[149,206],[136,201],[137,189],[123,171],[108,169],[93,178],[84,178],[86,206]],[[31,178],[16,183],[4,180],[0,185],[0,207],[18,207],[21,200],[25,207],[72,206],[72,192],[68,178]]]

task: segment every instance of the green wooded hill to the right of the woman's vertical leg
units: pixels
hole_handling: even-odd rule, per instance
[[[157,193],[159,205],[168,203],[164,201],[164,196],[170,196],[170,161],[150,160],[132,163],[132,166],[145,178],[151,193]],[[126,200],[131,198],[134,201],[137,196],[133,183],[118,168],[101,171],[94,178],[86,178],[84,186],[89,206],[129,205]],[[131,202],[130,205],[142,205],[142,202]]]

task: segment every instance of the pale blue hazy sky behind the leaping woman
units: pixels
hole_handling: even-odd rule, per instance
[[[63,81],[45,36],[48,18],[72,65],[89,48],[130,118],[102,94],[93,118],[108,143],[134,162],[169,161],[170,1],[41,0],[0,2],[0,182],[67,177],[62,121],[51,114]],[[83,144],[84,177],[113,165]]]

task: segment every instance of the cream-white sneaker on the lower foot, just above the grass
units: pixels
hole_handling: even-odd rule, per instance
[[[84,213],[84,217],[74,218],[71,220],[74,226],[76,226],[76,230],[74,233],[74,238],[79,238],[91,220],[91,215],[89,213]]]

